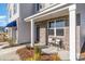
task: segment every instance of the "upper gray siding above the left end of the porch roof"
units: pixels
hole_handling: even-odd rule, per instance
[[[19,14],[20,18],[26,18],[34,14],[34,4],[33,3],[20,3],[19,4]]]

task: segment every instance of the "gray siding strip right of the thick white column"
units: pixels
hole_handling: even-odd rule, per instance
[[[76,4],[76,14],[81,14],[81,26],[76,28],[76,52],[80,53],[85,41],[85,4]]]

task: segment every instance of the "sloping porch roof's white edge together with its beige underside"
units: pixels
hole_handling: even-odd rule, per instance
[[[54,9],[49,12],[46,13],[42,13],[37,15],[37,16],[29,16],[28,18],[25,18],[26,22],[30,22],[31,20],[33,20],[34,22],[40,22],[40,21],[45,21],[45,20],[51,20],[51,18],[55,18],[55,17],[59,17],[59,16],[63,16],[63,15],[69,15],[69,5],[63,5],[61,8],[57,8]]]

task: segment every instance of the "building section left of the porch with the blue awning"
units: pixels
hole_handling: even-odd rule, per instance
[[[32,15],[34,12],[34,5],[31,3],[10,3],[8,4],[9,9],[9,38],[16,40],[16,43],[29,42],[30,34],[27,24],[24,18]]]

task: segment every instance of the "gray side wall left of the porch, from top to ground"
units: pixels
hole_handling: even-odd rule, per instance
[[[30,42],[30,23],[24,21],[24,18],[34,14],[33,3],[20,3],[19,4],[19,18],[17,21],[18,43]]]

